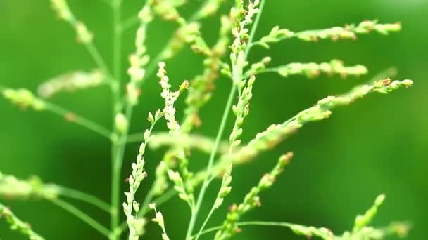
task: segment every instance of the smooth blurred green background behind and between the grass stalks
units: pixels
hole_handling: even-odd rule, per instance
[[[125,0],[123,14],[136,14],[144,1]],[[191,15],[202,1],[191,1],[182,8]],[[70,0],[78,18],[94,31],[95,44],[111,62],[111,13],[101,0]],[[227,9],[223,8],[222,13]],[[428,223],[428,1],[268,1],[258,30],[263,36],[275,25],[292,30],[317,29],[379,19],[402,22],[403,31],[391,36],[370,34],[358,41],[319,41],[305,43],[291,40],[276,44],[271,51],[253,51],[251,59],[265,55],[272,66],[287,62],[322,62],[339,58],[348,65],[361,63],[373,76],[386,67],[398,67],[398,79],[413,79],[415,86],[391,95],[370,95],[350,107],[336,109],[331,119],[305,126],[297,135],[262,154],[257,161],[234,170],[233,191],[226,204],[215,213],[209,225],[219,225],[226,208],[239,202],[260,177],[272,168],[277,157],[292,150],[295,157],[276,185],[262,195],[263,207],[244,220],[273,220],[325,226],[341,233],[350,229],[353,219],[363,213],[374,198],[387,195],[374,225],[392,220],[410,220],[413,229],[408,239],[425,239]],[[213,42],[218,20],[203,22],[203,34]],[[168,40],[173,25],[157,21],[149,29],[149,53],[154,55]],[[124,36],[123,68],[133,51],[134,29]],[[201,59],[184,49],[168,62],[170,79],[178,84],[199,74]],[[51,11],[49,1],[0,0],[0,84],[37,89],[42,81],[76,69],[92,69],[94,63],[83,46],[76,44],[75,33]],[[125,75],[125,72],[123,73]],[[370,76],[369,76],[370,77]],[[260,76],[254,89],[251,113],[244,125],[244,140],[280,123],[296,112],[313,105],[327,95],[348,91],[367,78],[339,79],[300,76],[281,79],[275,74]],[[147,127],[146,112],[161,106],[156,77],[143,88],[143,96],[134,114],[132,133]],[[197,133],[215,135],[225,105],[230,82],[217,81],[215,97],[201,113],[203,126]],[[63,94],[53,102],[75,112],[111,125],[110,94],[106,87]],[[178,114],[182,114],[177,107]],[[230,130],[232,121],[229,121]],[[137,144],[130,144],[125,154],[125,173],[134,161]],[[39,175],[46,182],[91,192],[108,201],[110,188],[109,142],[80,126],[68,124],[49,113],[22,111],[0,100],[0,171],[27,178]],[[162,156],[151,152],[146,157],[149,176]],[[194,155],[191,168],[201,166],[207,157]],[[141,187],[144,196],[149,178]],[[208,211],[218,183],[206,197]],[[141,198],[140,198],[141,199]],[[1,200],[2,202],[5,202]],[[46,239],[102,239],[90,227],[62,209],[44,201],[5,202],[20,218],[31,222]],[[74,203],[94,215],[103,224],[108,216],[90,206]],[[177,199],[160,207],[165,215],[171,239],[182,239],[189,211]],[[160,229],[148,226],[146,239],[159,239]],[[0,223],[1,239],[21,239]],[[208,239],[208,238],[206,238]],[[303,239],[287,229],[246,227],[236,239]]]

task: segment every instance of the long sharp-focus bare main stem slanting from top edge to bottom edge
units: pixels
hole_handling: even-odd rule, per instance
[[[258,28],[258,24],[260,22],[260,16],[263,13],[263,7],[264,6],[265,6],[265,1],[260,1],[260,7],[259,7],[260,12],[256,16],[256,20],[254,21],[254,25],[251,28],[250,36],[248,38],[248,47],[245,49],[245,52],[244,52],[244,58],[245,59],[248,58],[248,54],[251,51],[251,47],[249,47],[249,46],[251,46],[251,42],[253,41],[254,35],[256,34],[256,30]],[[234,79],[234,82],[238,82],[236,80],[241,80],[241,77],[242,76],[239,76],[239,79]],[[213,150],[211,151],[211,154],[210,154],[210,159],[208,160],[208,167],[207,167],[208,173],[210,173],[212,168],[213,168],[215,155],[218,152],[218,147],[220,146],[220,140],[222,138],[223,132],[225,131],[227,118],[229,116],[230,108],[232,107],[232,102],[234,99],[234,95],[236,94],[236,91],[237,91],[236,86],[234,86],[234,84],[232,84],[232,89],[229,93],[229,99],[227,100],[227,104],[225,106],[225,112],[223,113],[222,121],[220,123],[220,128],[219,128],[217,137],[215,138],[215,143],[214,143]],[[191,214],[191,218],[190,218],[190,222],[189,222],[189,227],[187,228],[186,240],[189,240],[191,238],[191,234],[193,232],[193,229],[194,229],[194,226],[196,223],[196,218],[198,217],[199,210],[200,210],[201,205],[202,205],[203,196],[205,196],[206,190],[208,189],[208,185],[210,185],[210,182],[212,179],[213,178],[206,178],[202,183],[201,192],[199,192],[198,200],[196,202],[196,207],[192,210],[192,214]],[[208,215],[208,218],[209,217],[210,217],[210,215]],[[208,222],[208,220],[206,220],[204,222]],[[201,229],[203,230],[203,228],[201,228]]]

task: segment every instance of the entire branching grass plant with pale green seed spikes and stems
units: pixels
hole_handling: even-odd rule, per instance
[[[106,3],[111,6],[114,22],[112,47],[114,59],[112,69],[109,69],[101,53],[94,45],[94,34],[89,31],[83,22],[77,20],[67,1],[51,0],[51,5],[58,17],[68,22],[75,29],[77,41],[87,48],[89,55],[96,63],[96,69],[91,72],[80,70],[56,76],[41,84],[38,91],[40,97],[24,88],[15,90],[5,86],[0,86],[0,93],[4,98],[18,105],[18,107],[52,112],[62,116],[67,121],[89,128],[94,133],[98,133],[110,140],[112,143],[111,202],[106,203],[96,198],[96,196],[67,187],[46,184],[39,178],[33,177],[29,180],[20,180],[11,175],[0,173],[1,197],[9,200],[44,199],[51,201],[111,240],[120,239],[126,229],[129,231],[127,232],[128,239],[139,239],[139,236],[145,233],[144,227],[148,223],[146,215],[150,211],[155,214],[152,219],[153,222],[156,222],[162,230],[161,238],[163,240],[170,239],[165,228],[163,214],[158,211],[156,206],[159,207],[160,204],[165,203],[176,194],[189,206],[191,213],[185,240],[199,239],[202,235],[214,232],[214,239],[230,239],[241,232],[241,228],[248,225],[288,227],[296,234],[308,238],[316,236],[326,240],[384,239],[385,236],[391,234],[405,236],[408,232],[408,225],[403,223],[392,223],[385,228],[370,227],[372,218],[384,201],[384,195],[379,196],[372,208],[365,214],[358,215],[352,231],[345,232],[341,236],[335,235],[332,230],[324,227],[307,227],[288,222],[241,222],[246,213],[260,206],[261,194],[264,190],[272,187],[279,174],[282,173],[283,168],[289,164],[293,156],[291,152],[279,157],[272,171],[263,175],[256,186],[252,187],[248,194],[244,196],[244,200],[240,204],[232,204],[229,207],[222,225],[206,228],[210,217],[215,211],[221,211],[222,204],[227,201],[226,196],[232,191],[234,166],[248,163],[261,152],[272,149],[305,124],[329,118],[332,110],[336,107],[350,105],[369,93],[386,94],[398,88],[407,88],[413,85],[411,80],[392,81],[389,76],[379,76],[367,84],[356,86],[353,90],[343,95],[329,96],[319,100],[313,107],[299,112],[281,124],[272,124],[265,131],[258,133],[254,138],[245,142],[246,140],[241,139],[241,135],[244,132],[244,121],[249,114],[253,88],[257,86],[256,78],[258,75],[275,72],[283,78],[295,75],[315,78],[320,74],[346,78],[363,76],[368,73],[367,68],[363,65],[345,65],[341,60],[320,63],[291,62],[278,67],[269,67],[272,59],[268,56],[258,62],[251,62],[248,58],[251,49],[256,46],[270,48],[271,44],[293,38],[302,41],[318,41],[320,39],[338,41],[341,39],[356,39],[358,34],[368,34],[370,32],[389,34],[389,32],[400,30],[401,24],[364,21],[357,25],[303,32],[291,32],[289,29],[273,27],[266,36],[255,40],[254,36],[263,13],[265,0],[236,0],[230,13],[220,17],[221,26],[218,39],[214,41],[215,44],[213,46],[210,46],[201,34],[202,25],[200,20],[216,15],[220,6],[226,4],[224,0],[206,0],[189,19],[185,19],[180,14],[180,6],[188,4],[185,0],[146,0],[137,16],[124,21],[122,21],[120,15],[122,1],[106,0]],[[149,37],[147,29],[156,18],[173,22],[177,25],[177,30],[172,34],[170,41],[162,51],[152,58],[149,56],[148,46],[146,46],[146,39]],[[130,67],[127,69],[129,81],[125,82],[122,81],[120,74],[122,32],[133,27],[135,23],[139,25],[134,41],[135,51],[129,58]],[[174,58],[186,44],[191,46],[194,53],[203,57],[203,69],[193,78],[189,78],[190,81],[186,80],[179,86],[174,86],[167,76],[164,61]],[[227,55],[229,60],[225,60]],[[147,120],[150,126],[144,133],[129,134],[132,109],[139,104],[141,86],[147,78],[153,75],[156,69],[158,69],[156,75],[160,79],[160,97],[163,98],[165,105],[159,107],[161,110],[158,110],[155,114],[149,112]],[[218,133],[215,139],[196,135],[192,131],[199,127],[203,120],[200,118],[199,112],[211,100],[215,89],[215,80],[220,78],[221,75],[230,80],[230,91],[220,126],[218,127]],[[64,91],[80,91],[84,88],[95,88],[101,85],[107,85],[111,88],[113,109],[113,126],[111,129],[47,100],[47,98]],[[174,88],[177,90],[172,91]],[[125,89],[125,93],[122,93],[120,89]],[[182,111],[184,116],[180,121],[176,114],[175,102],[179,96],[184,94],[184,90],[187,90],[186,108]],[[230,130],[228,140],[224,140],[223,136],[227,130],[230,112],[234,114],[234,124]],[[156,123],[162,118],[166,121],[168,133],[155,133],[153,130]],[[142,143],[139,147],[137,159],[131,164],[131,174],[127,178],[129,188],[125,192],[125,199],[122,202],[125,222],[120,225],[120,212],[122,212],[120,211],[120,199],[123,196],[123,194],[120,194],[120,182],[122,181],[120,173],[124,160],[123,154],[127,142],[134,141]],[[168,147],[156,166],[156,170],[146,170],[144,168],[144,154],[149,145],[154,148],[161,145]],[[194,149],[209,154],[206,168],[200,169],[195,173],[189,170],[189,164],[192,161],[189,153]],[[149,161],[155,160],[150,159]],[[137,190],[141,187],[144,179],[147,178],[146,171],[154,173],[152,174],[154,176],[153,185],[149,187],[145,199],[139,201]],[[201,219],[201,207],[207,202],[203,201],[207,189],[217,177],[222,179],[218,194],[213,201],[210,201],[212,204],[210,212],[205,218],[202,218],[202,225],[197,226],[198,220]],[[172,182],[172,187],[170,187],[169,182]],[[199,185],[201,185],[201,189],[197,192],[196,187]],[[99,208],[101,211],[109,213],[111,226],[105,227],[101,225],[97,220],[70,205],[64,199],[84,201]],[[1,204],[0,217],[5,218],[12,229],[22,232],[30,239],[42,239],[41,236],[32,231],[30,225],[19,220],[9,208]]]

